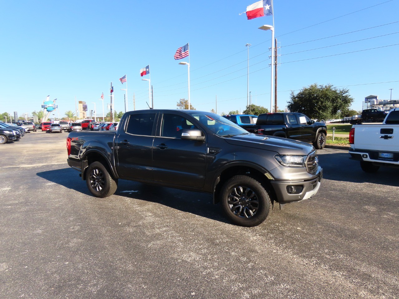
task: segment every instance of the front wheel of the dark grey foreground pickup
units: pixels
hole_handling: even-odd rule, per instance
[[[240,226],[261,224],[271,210],[268,192],[256,179],[246,175],[236,175],[226,181],[220,196],[226,216]]]

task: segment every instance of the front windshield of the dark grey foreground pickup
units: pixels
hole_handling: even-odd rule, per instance
[[[230,120],[213,113],[195,112],[191,116],[218,136],[229,137],[249,134]]]

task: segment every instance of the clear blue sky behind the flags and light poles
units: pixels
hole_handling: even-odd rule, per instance
[[[57,98],[61,117],[75,111],[75,96],[89,109],[95,102],[101,114],[99,98],[104,92],[107,110],[111,81],[115,110],[124,111],[120,89],[126,85],[119,78],[125,74],[129,110],[133,93],[136,110],[146,109],[148,82],[141,79],[149,76],[140,77],[140,69],[147,65],[154,107],[174,109],[180,98],[188,98],[188,68],[178,64],[188,57],[173,58],[186,43],[190,99],[197,110],[215,109],[216,96],[218,113],[245,109],[246,43],[251,44],[252,102],[269,108],[271,31],[258,28],[273,24],[273,18],[240,16],[253,2],[3,2],[0,113],[39,111],[50,95],[51,100]],[[298,92],[313,83],[348,88],[355,110],[361,110],[370,94],[389,99],[393,89],[392,98],[399,98],[398,1],[275,0],[273,6],[280,47],[279,108],[286,107],[290,90]],[[346,54],[337,55],[342,53]]]

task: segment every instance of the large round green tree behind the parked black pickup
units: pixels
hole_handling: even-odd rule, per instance
[[[348,111],[354,100],[349,89],[317,83],[302,88],[297,94],[291,91],[290,97],[287,107],[291,112],[300,112],[318,120],[332,118],[338,110]]]

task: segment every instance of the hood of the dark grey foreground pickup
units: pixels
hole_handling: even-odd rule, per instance
[[[258,134],[225,137],[225,140],[235,146],[266,149],[280,155],[308,155],[314,151],[314,147],[308,143]]]

